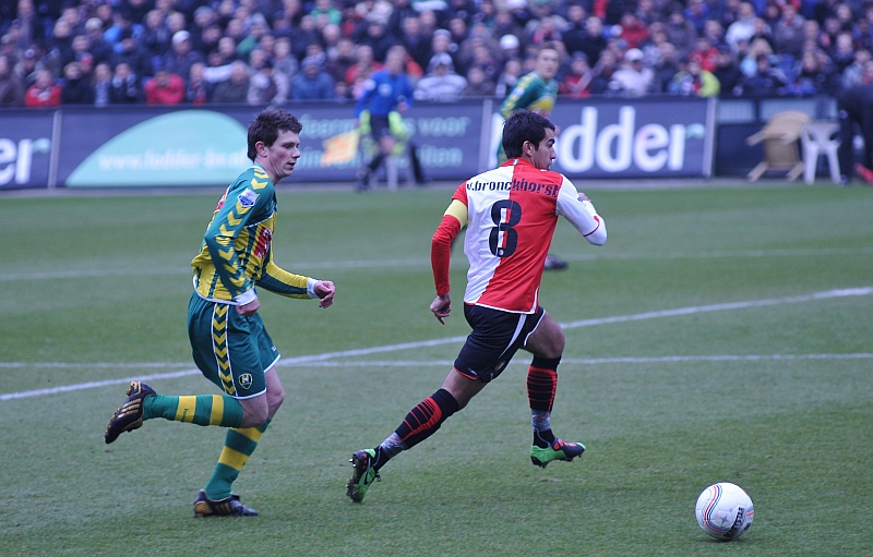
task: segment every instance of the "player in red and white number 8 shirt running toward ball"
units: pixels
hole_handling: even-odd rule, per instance
[[[606,222],[565,175],[549,170],[555,158],[554,124],[547,118],[528,111],[512,114],[503,128],[503,147],[506,162],[457,187],[431,244],[436,299],[430,310],[444,323],[452,311],[451,245],[467,226],[464,316],[473,331],[441,388],[410,410],[381,445],[352,455],[346,494],[355,502],[363,499],[391,458],[433,435],[503,372],[518,349],[534,354],[527,372],[534,426],[530,461],[545,468],[585,450],[551,429],[564,334],[539,305],[539,287],[559,216],[594,245],[607,241]]]

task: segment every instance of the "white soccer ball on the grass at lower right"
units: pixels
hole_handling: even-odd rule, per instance
[[[742,487],[721,482],[697,497],[697,523],[704,532],[723,542],[737,540],[752,525],[755,507]]]

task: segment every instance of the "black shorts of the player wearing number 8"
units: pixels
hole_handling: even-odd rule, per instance
[[[464,304],[464,317],[473,327],[455,360],[455,368],[470,379],[488,383],[497,378],[512,356],[527,342],[546,312],[510,313]]]

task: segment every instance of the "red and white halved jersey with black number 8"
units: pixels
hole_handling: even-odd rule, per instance
[[[558,217],[565,217],[591,244],[607,240],[606,222],[565,175],[513,158],[461,184],[452,196],[467,207],[464,253],[469,259],[464,302],[533,313]],[[449,214],[447,214],[449,215]],[[453,223],[446,216],[444,225]],[[443,232],[452,239],[456,223]],[[461,226],[465,222],[461,222]],[[440,230],[438,230],[440,234]],[[434,234],[433,250],[447,250]],[[451,245],[451,242],[449,243]],[[438,294],[449,290],[449,254],[432,253]]]

